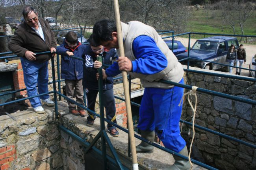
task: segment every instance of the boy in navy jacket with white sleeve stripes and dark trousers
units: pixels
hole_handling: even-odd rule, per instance
[[[103,64],[110,65],[117,59],[116,49],[107,50],[104,46],[97,46],[94,42],[92,35],[87,40],[89,45],[85,50],[85,63],[83,71],[83,86],[86,88],[86,97],[88,102],[88,109],[95,112],[96,97],[98,95],[98,80],[96,79],[97,69],[102,66],[102,63],[97,61],[98,55],[102,53]],[[103,80],[103,102],[106,109],[106,117],[108,120],[117,123],[115,117],[115,98],[113,92],[113,77]],[[93,126],[96,116],[88,113],[87,126]],[[117,137],[119,132],[116,127],[108,123],[108,132]]]

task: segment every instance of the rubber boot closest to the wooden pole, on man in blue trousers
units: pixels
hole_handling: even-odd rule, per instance
[[[141,130],[141,137],[148,139],[148,141],[150,141],[150,142],[154,142],[155,132]],[[153,151],[154,151],[154,146],[152,146],[148,143],[145,143],[143,141],[141,141],[141,143],[138,146],[136,146],[137,153],[151,154]]]

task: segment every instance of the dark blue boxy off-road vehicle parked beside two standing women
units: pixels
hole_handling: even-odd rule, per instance
[[[189,51],[189,57],[191,58],[189,59],[189,66],[212,70],[225,67],[223,65],[213,64],[208,61],[228,64],[226,62],[226,54],[231,44],[234,44],[236,49],[239,47],[236,37],[214,36],[197,40]],[[178,60],[187,58],[187,56],[187,52],[176,55]],[[201,59],[206,61],[198,61],[193,59]],[[187,60],[184,60],[181,63],[187,65]]]

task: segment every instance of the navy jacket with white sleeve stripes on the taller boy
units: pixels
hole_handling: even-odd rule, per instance
[[[104,49],[102,53],[102,64],[111,65],[113,61],[117,60],[117,51],[115,48]],[[98,90],[98,80],[96,79],[97,69],[93,67],[93,64],[97,60],[96,54],[91,50],[91,46],[86,46],[85,49],[85,63],[83,71],[83,86],[88,89]],[[103,66],[104,69],[106,69]],[[113,88],[113,77],[108,77],[103,80],[103,90],[109,90]]]

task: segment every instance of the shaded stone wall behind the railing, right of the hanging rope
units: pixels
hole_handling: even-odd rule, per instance
[[[185,82],[199,88],[256,100],[256,84],[253,82],[195,73],[188,73]],[[186,97],[182,119],[191,122],[189,117],[192,115]],[[256,106],[251,104],[197,93],[195,124],[256,144]],[[256,169],[256,149],[198,129],[195,137],[194,144],[203,153],[208,165],[220,170]]]

